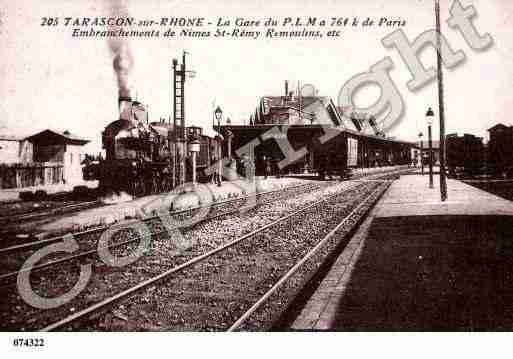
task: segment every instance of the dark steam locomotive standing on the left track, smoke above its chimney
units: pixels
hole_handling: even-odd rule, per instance
[[[216,161],[218,142],[199,127],[180,128],[161,120],[149,122],[146,108],[125,97],[119,99],[120,118],[105,127],[105,158],[84,167],[85,180],[98,180],[102,193],[126,192],[134,197],[167,192],[179,184],[179,163],[185,158],[186,178],[192,180],[187,137],[200,143],[196,162],[199,182],[208,180],[206,168]],[[185,133],[184,133],[185,131]]]

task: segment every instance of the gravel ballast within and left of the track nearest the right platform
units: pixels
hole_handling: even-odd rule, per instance
[[[56,320],[129,288],[147,278],[184,263],[234,238],[262,227],[321,196],[335,195],[294,219],[287,220],[254,238],[152,285],[131,298],[64,330],[225,330],[252,301],[279,279],[316,241],[334,227],[359,201],[382,183],[322,182],[309,190],[284,191],[280,198],[268,198],[255,209],[202,222],[182,231],[192,244],[178,251],[169,236],[154,238],[144,255],[128,266],[111,267],[96,257],[61,268],[48,268],[32,275],[34,289],[42,296],[57,296],[68,291],[78,279],[79,265],[91,264],[92,276],[85,290],[69,303],[50,310],[38,310],[24,303],[12,286],[3,287],[0,318],[4,330],[40,329]],[[354,188],[353,188],[354,187]],[[269,197],[273,197],[269,195]],[[271,200],[273,199],[273,200]],[[267,202],[266,202],[267,201]],[[159,231],[158,223],[151,225]],[[125,234],[126,237],[129,234]],[[112,252],[127,255],[137,246],[129,245]],[[307,271],[308,272],[308,271]],[[307,278],[309,274],[305,274]],[[304,282],[273,302],[280,308],[290,302]],[[265,314],[267,313],[267,314]],[[251,319],[248,329],[268,328],[276,317],[275,308],[264,309],[262,318]],[[271,319],[272,320],[271,320]],[[262,324],[265,323],[265,324]]]

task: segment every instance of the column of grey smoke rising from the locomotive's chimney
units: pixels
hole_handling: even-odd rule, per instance
[[[113,17],[128,17],[128,8],[123,0],[110,1],[110,13]],[[112,26],[109,30],[119,30]],[[113,67],[118,82],[120,98],[130,97],[130,73],[133,67],[133,57],[130,45],[124,39],[109,38],[109,49],[114,56]]]

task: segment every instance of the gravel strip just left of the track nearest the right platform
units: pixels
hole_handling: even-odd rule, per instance
[[[283,207],[281,202],[276,202],[276,193],[267,194],[259,197],[259,199],[263,200],[263,203],[254,211],[242,215],[233,214],[220,217],[196,225],[192,230],[184,231],[185,239],[195,245],[183,253],[177,253],[176,245],[168,237],[159,237],[151,241],[151,245],[145,255],[130,266],[116,268],[107,266],[103,262],[96,260],[96,258],[82,259],[80,264],[91,263],[93,265],[93,275],[87,288],[73,301],[54,310],[38,311],[21,300],[17,294],[16,287],[12,285],[4,286],[0,289],[3,294],[0,301],[1,322],[5,325],[5,329],[30,330],[41,328],[44,324],[54,321],[57,317],[63,317],[76,311],[78,308],[98,302],[171,266],[175,266],[193,256],[210,250],[223,243],[223,241],[231,239],[234,235],[240,235],[252,230],[251,224],[244,227],[238,226],[237,224],[240,222],[240,219],[256,216],[257,219],[254,220],[255,223],[253,224],[253,227],[256,228],[262,221],[272,221],[271,217],[267,216],[266,213],[275,213],[277,218],[281,213],[297,208],[304,201],[313,201],[329,185],[330,183],[322,182],[307,186],[306,189],[305,187],[300,187],[282,192],[284,197],[282,201],[289,203],[287,207]],[[338,184],[337,186],[346,187],[347,184]],[[314,193],[317,193],[317,195],[314,195]],[[304,197],[304,199],[296,203],[298,195]],[[233,203],[230,205],[233,206]],[[262,219],[258,221],[259,218]],[[234,228],[230,229],[230,227]],[[154,229],[158,230],[158,228]],[[134,245],[129,245],[124,248],[115,249],[112,252],[122,256],[132,251],[134,247]],[[25,253],[26,256],[28,256],[27,253]],[[9,257],[7,259],[4,258],[4,263],[8,263]],[[19,261],[16,262],[19,264]],[[62,270],[63,268],[66,268],[66,270]],[[34,290],[45,297],[57,296],[70,290],[77,279],[78,265],[76,261],[74,265],[47,268],[31,275]]]

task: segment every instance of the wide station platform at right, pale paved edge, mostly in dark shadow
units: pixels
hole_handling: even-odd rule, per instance
[[[513,330],[513,202],[438,178],[395,181],[293,330]]]

